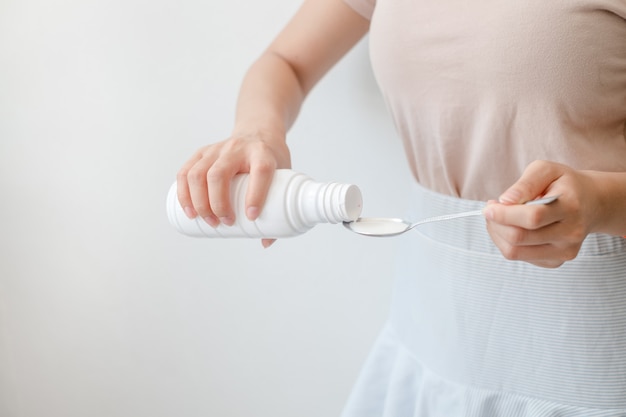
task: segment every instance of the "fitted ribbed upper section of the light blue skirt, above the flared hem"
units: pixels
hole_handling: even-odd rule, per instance
[[[484,203],[416,186],[416,218]],[[561,404],[626,409],[625,239],[590,235],[560,268],[507,261],[482,217],[397,239],[390,325],[441,377]]]

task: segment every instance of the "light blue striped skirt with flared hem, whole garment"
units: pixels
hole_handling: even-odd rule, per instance
[[[484,203],[415,186],[413,220]],[[626,239],[557,269],[505,260],[482,217],[398,239],[389,320],[343,417],[626,416]]]

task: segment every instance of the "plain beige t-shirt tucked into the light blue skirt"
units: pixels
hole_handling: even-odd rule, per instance
[[[415,178],[497,197],[533,160],[626,171],[626,0],[344,0]]]

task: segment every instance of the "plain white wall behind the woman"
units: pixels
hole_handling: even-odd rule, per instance
[[[0,416],[336,416],[385,319],[393,240],[323,225],[178,235],[178,167],[231,128],[297,0],[0,0]],[[314,90],[294,168],[404,212],[361,43]]]

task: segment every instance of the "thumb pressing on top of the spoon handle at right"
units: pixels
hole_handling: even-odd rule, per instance
[[[522,176],[498,198],[503,204],[524,204],[543,195],[548,186],[563,173],[560,164],[535,161]]]

